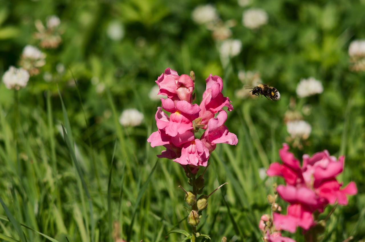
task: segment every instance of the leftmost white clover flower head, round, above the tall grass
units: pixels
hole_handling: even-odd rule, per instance
[[[29,81],[29,73],[27,70],[23,68],[15,68],[14,66],[10,66],[9,70],[7,70],[3,75],[3,82],[5,87],[8,89],[16,89],[19,90],[22,87],[25,87]]]

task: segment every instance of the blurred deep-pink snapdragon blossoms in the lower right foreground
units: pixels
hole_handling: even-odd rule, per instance
[[[350,182],[345,188],[338,183],[336,176],[343,170],[345,157],[330,156],[327,150],[315,153],[312,157],[303,155],[303,165],[290,153],[289,146],[283,145],[279,155],[283,164],[277,162],[270,165],[266,171],[268,176],[281,176],[286,186],[278,185],[277,192],[290,203],[287,215],[273,214],[273,223],[278,230],[291,233],[299,226],[308,230],[315,224],[313,213],[323,212],[328,204],[346,205],[346,195],[355,195],[357,188]]]

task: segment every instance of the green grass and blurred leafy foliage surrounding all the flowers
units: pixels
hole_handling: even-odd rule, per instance
[[[323,241],[365,237],[365,74],[349,70],[347,54],[351,41],[365,39],[365,1],[253,0],[246,7],[234,0],[214,1],[223,21],[237,21],[232,38],[243,44],[227,67],[211,32],[191,20],[192,9],[206,3],[0,0],[1,76],[10,65],[18,66],[24,46],[38,44],[36,19],[45,23],[47,16],[57,15],[64,30],[57,49],[42,50],[47,63],[41,74],[19,91],[19,112],[14,92],[0,85],[0,197],[7,208],[0,210],[2,240],[46,241],[40,232],[60,242],[66,236],[71,242],[113,241],[113,221],[119,221],[120,237],[128,242],[184,238],[169,232],[190,231],[178,188],[188,189],[187,178],[177,163],[158,160],[162,149],[146,142],[157,130],[154,114],[160,105],[148,94],[167,67],[179,74],[194,70],[198,103],[205,78],[221,76],[223,94],[235,108],[226,125],[237,134],[238,145],[221,144],[212,153],[205,193],[228,184],[208,200],[198,231],[212,241],[222,236],[261,240],[258,221],[270,211],[266,196],[276,179],[261,180],[259,168],[279,161],[278,149],[289,137],[283,121],[289,100],[296,97],[301,78],[314,76],[324,92],[297,100],[299,111],[311,105],[305,119],[312,132],[302,150],[292,151],[298,158],[324,149],[336,157],[346,155],[339,180],[345,185],[355,181],[358,194],[348,206],[336,208]],[[242,25],[242,12],[251,7],[269,15],[268,24],[254,31]],[[121,41],[107,36],[111,21],[123,24]],[[64,73],[56,71],[59,63]],[[235,97],[242,88],[237,77],[242,69],[260,72],[280,91],[281,100]],[[52,81],[43,79],[46,72]],[[99,84],[104,91],[96,91]],[[144,114],[141,126],[119,124],[126,108]],[[325,215],[331,207],[327,210]],[[17,222],[34,230],[23,227],[24,238]],[[300,231],[291,236],[303,241]]]

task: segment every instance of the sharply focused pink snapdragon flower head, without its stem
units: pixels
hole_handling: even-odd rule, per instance
[[[203,100],[200,105],[193,104],[192,78],[185,74],[179,76],[175,70],[167,68],[156,83],[160,88],[158,94],[168,98],[161,98],[162,107],[157,108],[155,115],[158,130],[147,139],[152,147],[163,145],[166,148],[158,157],[173,159],[184,167],[191,165],[193,173],[199,166],[207,165],[217,143],[236,145],[238,141],[224,125],[227,112],[222,108],[226,106],[231,111],[233,107],[222,94],[222,78],[210,74],[205,81]],[[163,110],[170,112],[170,117]],[[216,118],[215,114],[218,114]],[[194,133],[199,128],[205,132],[197,139]]]

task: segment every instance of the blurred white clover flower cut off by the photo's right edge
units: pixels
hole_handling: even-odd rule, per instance
[[[365,40],[358,39],[349,46],[350,69],[353,71],[365,71]]]

